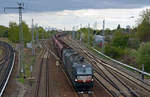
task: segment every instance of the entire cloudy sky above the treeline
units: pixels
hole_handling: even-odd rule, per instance
[[[16,7],[20,0],[0,0],[0,25],[8,26],[10,21],[18,22],[17,10],[4,7]],[[80,27],[114,29],[130,25],[135,27],[141,12],[150,8],[150,0],[22,0],[24,2],[23,20],[31,26],[56,27],[71,30]],[[95,26],[97,24],[97,26]]]

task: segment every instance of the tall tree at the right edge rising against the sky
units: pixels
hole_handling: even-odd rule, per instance
[[[136,36],[142,42],[150,41],[150,9],[143,11]]]

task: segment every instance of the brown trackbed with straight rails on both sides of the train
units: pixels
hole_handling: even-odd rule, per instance
[[[150,95],[149,83],[129,74],[128,71],[116,68],[108,62],[103,61],[97,55],[93,54],[91,50],[83,46],[83,44],[70,38],[70,36],[63,37],[61,40],[84,56],[93,65],[95,84],[93,91],[91,93],[79,93],[75,91],[63,70],[63,64],[58,62],[60,59],[55,54],[53,43],[50,39],[41,42],[43,50],[40,54],[40,70],[33,97],[56,97],[56,95],[58,97],[148,97]],[[42,71],[44,72],[42,73]],[[62,85],[63,81],[61,77],[57,81],[59,75],[63,76],[62,79],[65,80],[64,83],[68,86],[69,90],[67,90],[67,93],[63,89],[66,87]],[[54,81],[58,82],[60,86],[62,85],[61,89],[58,89],[59,85],[55,85]],[[43,86],[42,83],[45,85]],[[41,93],[40,91],[43,92]]]

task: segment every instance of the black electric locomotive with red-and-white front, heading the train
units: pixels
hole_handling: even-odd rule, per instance
[[[73,49],[63,50],[63,63],[75,89],[88,92],[93,88],[93,69],[82,56]]]

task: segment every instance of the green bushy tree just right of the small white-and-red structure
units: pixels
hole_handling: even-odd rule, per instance
[[[112,58],[121,58],[125,54],[128,40],[128,34],[124,34],[122,29],[116,30],[112,41],[105,46],[104,53]]]

